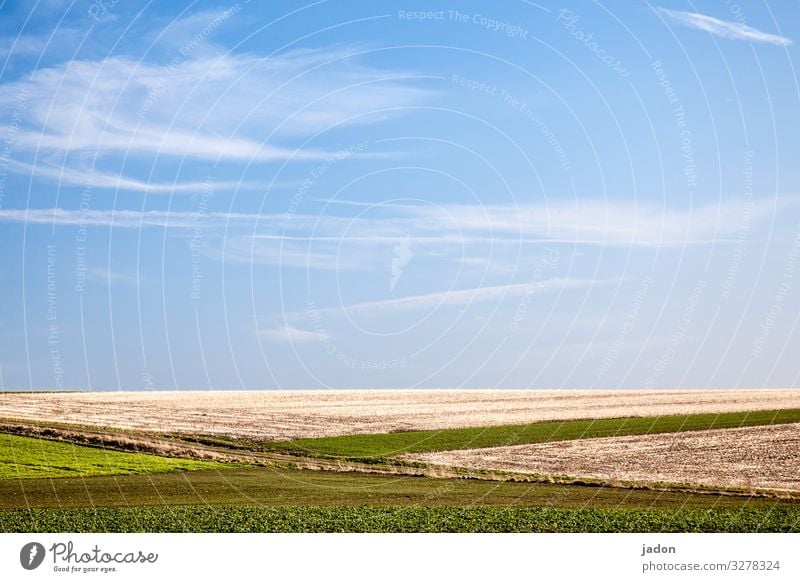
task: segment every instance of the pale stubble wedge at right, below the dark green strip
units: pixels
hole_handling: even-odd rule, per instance
[[[407,455],[471,469],[800,491],[800,424]]]

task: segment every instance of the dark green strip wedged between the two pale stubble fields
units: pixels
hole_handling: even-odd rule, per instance
[[[800,409],[692,414],[645,418],[568,420],[490,426],[419,430],[386,434],[297,439],[269,443],[267,448],[302,455],[382,460],[402,453],[426,453],[565,441],[609,436],[739,428],[800,422]]]

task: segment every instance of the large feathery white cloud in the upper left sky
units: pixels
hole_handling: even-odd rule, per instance
[[[363,66],[358,53],[340,46],[269,57],[204,53],[167,64],[72,60],[0,85],[0,111],[22,96],[15,147],[36,152],[327,159],[331,152],[286,144],[433,95],[417,86],[421,77]]]

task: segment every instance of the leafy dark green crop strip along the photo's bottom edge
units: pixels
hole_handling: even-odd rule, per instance
[[[3,532],[798,532],[798,509],[127,507],[0,511]]]

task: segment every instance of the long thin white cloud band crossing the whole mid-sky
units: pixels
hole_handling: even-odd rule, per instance
[[[279,264],[281,252],[321,252],[326,260],[342,250],[381,249],[406,240],[417,249],[557,243],[587,246],[681,247],[724,244],[743,228],[756,229],[778,212],[795,212],[798,197],[757,201],[731,199],[684,209],[632,202],[576,201],[548,205],[448,205],[444,212],[408,205],[365,218],[312,213],[236,213],[139,210],[0,209],[0,222],[115,228],[248,228],[225,248],[229,258]],[[366,255],[359,256],[359,260]],[[263,259],[263,261],[262,261]],[[297,266],[303,266],[297,263]]]

